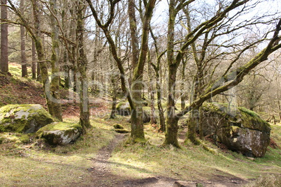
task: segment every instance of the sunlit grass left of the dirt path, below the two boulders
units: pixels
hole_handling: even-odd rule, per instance
[[[87,134],[75,144],[65,147],[43,147],[40,141],[32,144],[20,143],[17,134],[1,133],[5,138],[0,144],[0,186],[85,186],[93,184],[92,158],[101,147],[108,144],[115,133],[109,125],[100,126],[101,121],[92,121]],[[106,128],[103,128],[106,127]]]

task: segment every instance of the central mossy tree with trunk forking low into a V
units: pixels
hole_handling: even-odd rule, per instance
[[[147,57],[147,50],[148,50],[148,35],[150,30],[150,20],[152,18],[153,9],[156,3],[156,0],[150,0],[145,3],[145,13],[143,16],[143,28],[142,28],[142,35],[141,35],[141,48],[139,50],[140,54],[137,56],[138,58],[134,58],[131,62],[132,65],[135,66],[134,68],[134,74],[131,81],[131,91],[126,85],[126,78],[125,78],[125,71],[122,65],[122,61],[117,53],[117,45],[114,42],[110,31],[108,30],[110,28],[110,24],[113,22],[114,14],[115,14],[115,5],[119,2],[117,1],[111,1],[109,6],[110,9],[110,15],[108,16],[108,20],[102,24],[102,20],[100,20],[99,15],[92,5],[91,0],[87,0],[87,3],[89,4],[89,7],[92,10],[94,19],[96,20],[96,23],[99,25],[99,27],[103,30],[103,33],[105,33],[106,38],[108,40],[108,43],[110,43],[110,51],[113,54],[113,58],[115,59],[117,63],[117,67],[120,70],[121,74],[121,83],[122,83],[122,90],[124,93],[127,94],[127,98],[131,107],[131,137],[133,142],[136,141],[143,141],[145,140],[145,135],[143,132],[143,102],[142,102],[142,91],[143,91],[143,68],[145,65],[146,57]],[[131,1],[129,1],[131,3]],[[129,7],[128,7],[129,8]],[[136,8],[131,7],[131,8]],[[131,17],[130,22],[131,24],[134,24],[134,17],[133,15],[130,15]],[[131,30],[133,31],[133,30]],[[134,37],[131,36],[131,37]],[[134,39],[133,39],[134,40]],[[136,47],[136,43],[134,43]],[[136,54],[136,50],[133,51],[134,54]]]

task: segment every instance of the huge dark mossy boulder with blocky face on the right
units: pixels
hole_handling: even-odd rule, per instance
[[[271,127],[258,114],[223,103],[206,103],[201,111],[203,135],[211,135],[217,142],[245,156],[266,154]]]

